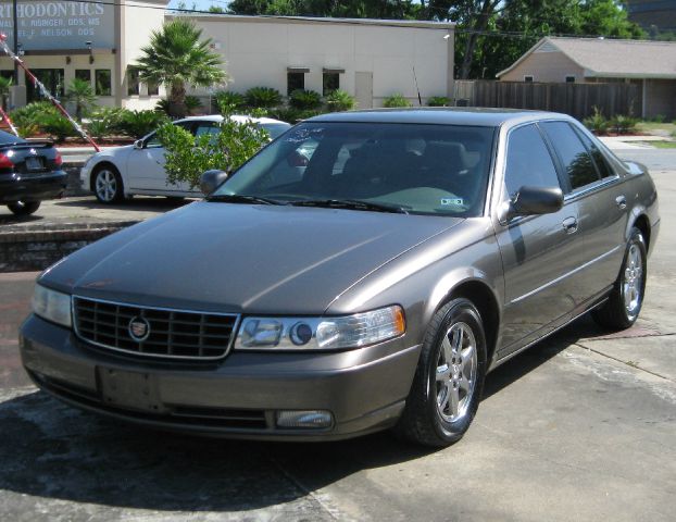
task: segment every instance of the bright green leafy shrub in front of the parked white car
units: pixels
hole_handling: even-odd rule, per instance
[[[228,114],[224,116],[217,134],[196,137],[171,123],[158,128],[158,137],[165,148],[167,183],[186,182],[196,187],[204,171],[233,171],[268,141],[267,132],[254,123],[238,123],[227,117]]]

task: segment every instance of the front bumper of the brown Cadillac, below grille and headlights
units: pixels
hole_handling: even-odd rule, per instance
[[[91,347],[35,315],[23,324],[20,346],[35,383],[74,406],[171,431],[274,440],[340,439],[392,426],[420,355],[400,338],[331,353],[233,351],[217,363],[149,362]],[[280,410],[329,411],[333,425],[277,427]]]

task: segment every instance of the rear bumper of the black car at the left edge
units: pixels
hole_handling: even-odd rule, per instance
[[[45,174],[2,174],[0,175],[0,203],[16,201],[42,201],[63,195],[67,184],[64,171]]]

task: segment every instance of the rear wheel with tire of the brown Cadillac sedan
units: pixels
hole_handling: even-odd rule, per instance
[[[591,312],[597,323],[611,330],[625,330],[636,322],[643,306],[647,269],[646,240],[641,231],[634,227],[609,299]]]

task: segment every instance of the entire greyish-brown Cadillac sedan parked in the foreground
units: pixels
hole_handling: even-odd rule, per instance
[[[168,430],[446,446],[490,370],[590,310],[634,324],[660,224],[644,167],[546,112],[327,114],[224,177],[38,278],[40,388]]]

